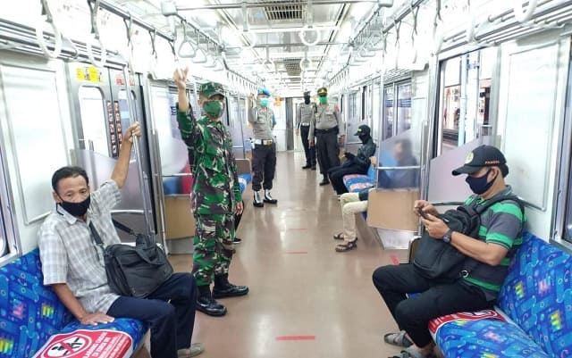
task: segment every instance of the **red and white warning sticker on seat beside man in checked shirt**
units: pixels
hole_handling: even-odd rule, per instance
[[[127,358],[133,338],[127,333],[98,329],[78,329],[50,337],[32,358]]]

